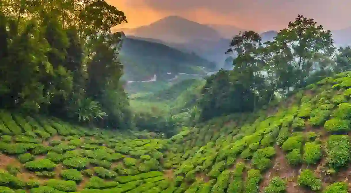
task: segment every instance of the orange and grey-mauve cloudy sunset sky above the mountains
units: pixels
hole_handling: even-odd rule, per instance
[[[279,30],[298,14],[325,29],[351,27],[351,0],[106,0],[123,11],[121,28],[151,24],[178,15],[200,24],[232,25],[257,31]]]

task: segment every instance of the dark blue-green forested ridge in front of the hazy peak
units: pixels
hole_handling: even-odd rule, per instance
[[[165,80],[173,78],[177,73],[201,73],[198,66],[214,66],[198,55],[134,38],[124,40],[120,55],[124,65],[124,79],[128,81],[147,80],[154,74],[158,80]]]

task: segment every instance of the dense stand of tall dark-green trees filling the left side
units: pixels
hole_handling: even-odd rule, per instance
[[[126,22],[100,0],[0,1],[0,107],[130,128],[120,77]],[[104,121],[102,121],[104,120]]]

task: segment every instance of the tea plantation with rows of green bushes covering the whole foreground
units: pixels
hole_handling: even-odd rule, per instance
[[[4,193],[347,193],[351,73],[171,139],[0,113]]]

